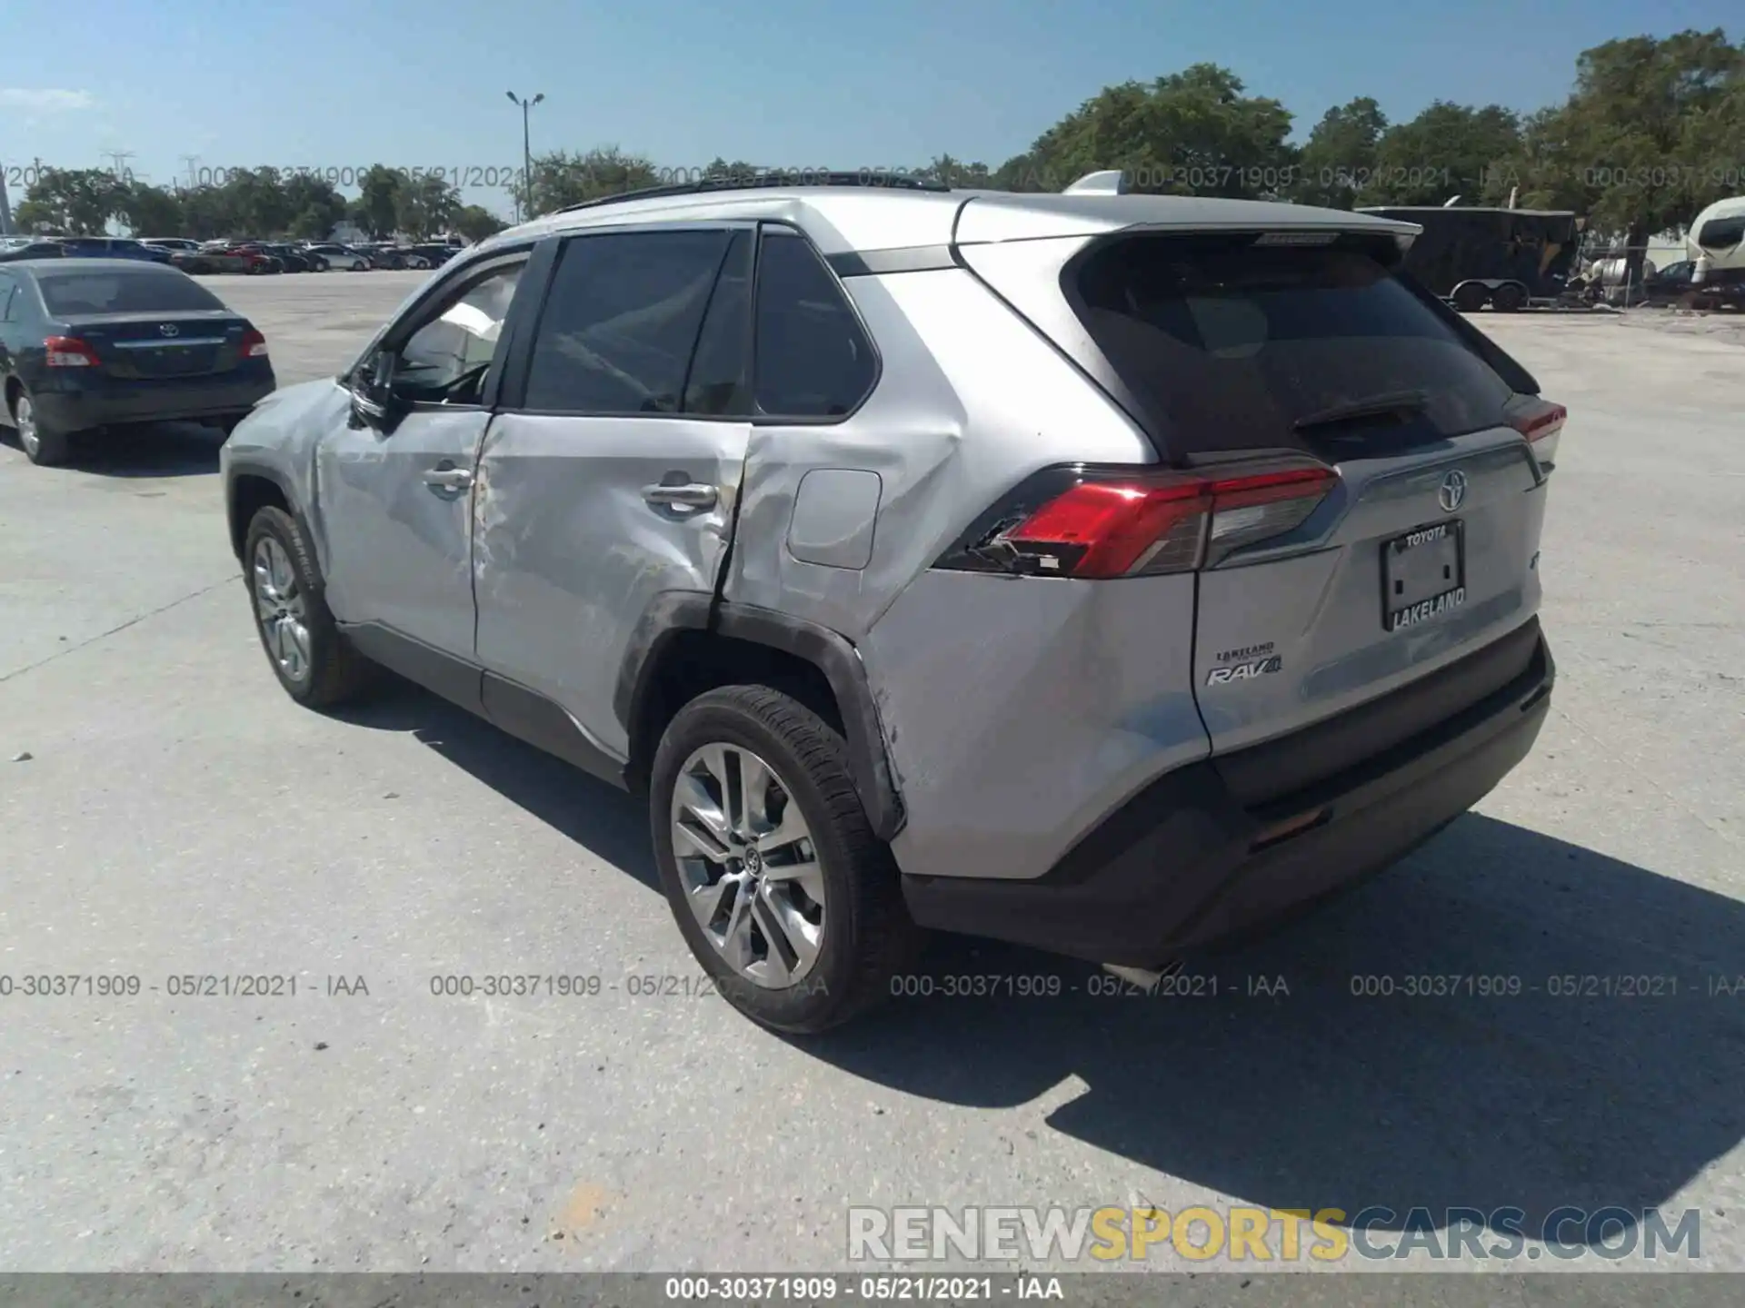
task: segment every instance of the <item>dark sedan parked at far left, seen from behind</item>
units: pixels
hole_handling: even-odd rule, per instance
[[[267,338],[176,269],[0,267],[0,392],[33,464],[65,462],[96,429],[181,419],[229,433],[274,385]]]

